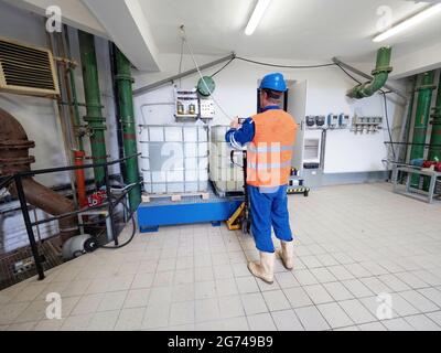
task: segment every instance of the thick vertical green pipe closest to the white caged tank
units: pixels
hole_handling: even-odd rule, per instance
[[[133,78],[129,60],[116,49],[117,87],[119,97],[119,116],[123,130],[123,149],[126,157],[137,154],[137,133],[133,109]],[[139,185],[138,158],[127,161],[125,181],[127,184],[138,184],[129,193],[131,211],[138,210],[141,203],[141,186]]]

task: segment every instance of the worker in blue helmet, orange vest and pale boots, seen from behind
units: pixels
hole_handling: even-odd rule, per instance
[[[247,190],[251,207],[251,233],[260,263],[248,264],[249,271],[267,284],[273,282],[276,249],[271,227],[281,242],[279,256],[292,270],[294,246],[288,211],[288,183],[298,125],[280,108],[287,83],[282,74],[265,76],[259,88],[261,114],[243,124],[237,118],[226,133],[235,149],[247,147]]]

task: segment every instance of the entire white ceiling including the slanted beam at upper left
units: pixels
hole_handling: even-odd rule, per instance
[[[140,71],[161,71],[160,54],[181,51],[184,24],[196,54],[230,52],[293,63],[330,62],[334,56],[372,67],[377,49],[394,46],[396,78],[441,66],[441,13],[426,23],[374,43],[381,11],[390,24],[441,0],[272,0],[257,31],[244,31],[257,0],[0,0],[44,15],[60,6],[65,23],[112,40]]]

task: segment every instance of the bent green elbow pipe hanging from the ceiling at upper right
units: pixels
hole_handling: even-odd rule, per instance
[[[392,67],[390,66],[391,51],[390,46],[385,46],[378,50],[377,65],[373,71],[374,79],[352,88],[347,93],[349,98],[362,99],[370,97],[384,87],[389,77],[389,73],[392,71]]]

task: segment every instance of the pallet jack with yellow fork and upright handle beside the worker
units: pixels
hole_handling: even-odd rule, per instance
[[[235,156],[237,153],[241,153],[243,165],[239,165],[235,162]],[[229,231],[240,231],[244,234],[250,234],[251,231],[251,211],[249,204],[249,193],[247,188],[247,160],[248,154],[247,151],[232,151],[230,154],[232,163],[243,168],[244,171],[244,193],[245,200],[240,204],[239,208],[233,214],[233,216],[227,221],[227,227]]]

